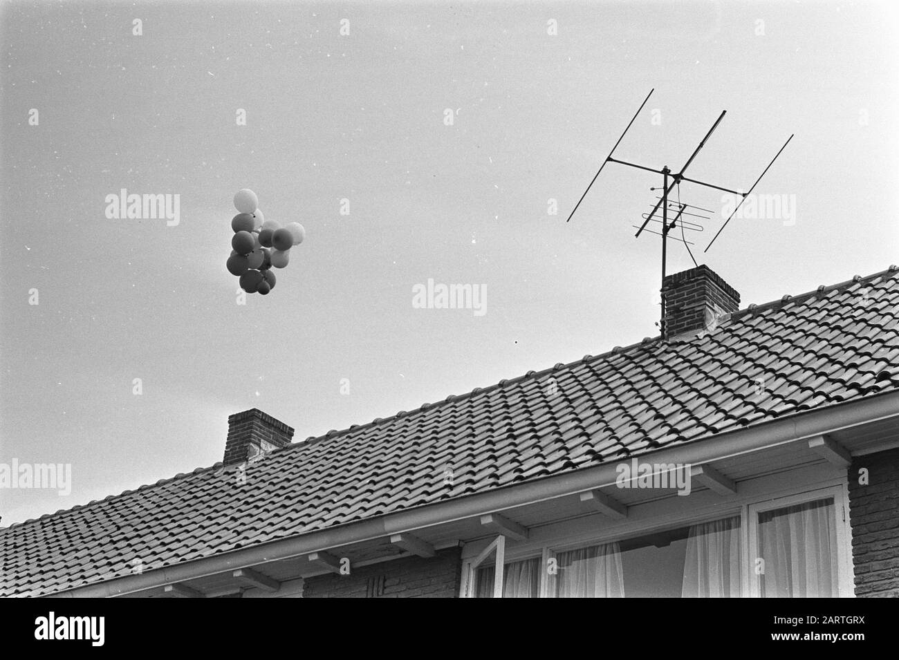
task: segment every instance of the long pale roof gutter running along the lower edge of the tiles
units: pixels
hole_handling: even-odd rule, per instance
[[[664,463],[720,461],[745,453],[801,441],[833,433],[859,424],[888,418],[899,418],[899,392],[886,392],[868,399],[841,403],[825,409],[809,410],[788,418],[767,422],[758,427],[730,431],[718,436],[641,454]],[[414,532],[425,527],[451,523],[536,504],[556,497],[611,486],[618,476],[619,462],[608,462],[592,468],[529,481],[490,492],[460,497],[440,504],[418,506],[406,511],[379,516],[358,523],[334,526],[271,541],[241,550],[232,550],[204,559],[196,559],[144,574],[122,576],[109,581],[76,587],[52,597],[113,597],[154,589],[164,585],[213,576],[237,568],[253,568],[280,559],[293,559],[312,552],[331,550],[351,543],[376,541],[390,534]]]

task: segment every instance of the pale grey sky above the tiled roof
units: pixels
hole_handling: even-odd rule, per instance
[[[745,190],[795,134],[779,213],[706,253],[730,202],[681,185],[743,306],[886,269],[897,37],[890,2],[4,2],[0,463],[71,484],[0,488],[0,525],[212,465],[240,410],[301,441],[656,336],[661,176],[610,164],[565,223],[650,89],[617,158],[678,172],[727,110],[688,175]],[[307,231],[243,301],[242,188]]]

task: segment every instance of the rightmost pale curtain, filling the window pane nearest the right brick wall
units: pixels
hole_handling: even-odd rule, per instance
[[[833,498],[759,514],[764,560],[761,595],[781,598],[838,595]]]

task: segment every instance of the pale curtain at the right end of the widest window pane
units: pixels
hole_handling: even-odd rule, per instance
[[[740,516],[690,525],[682,598],[739,598]]]

